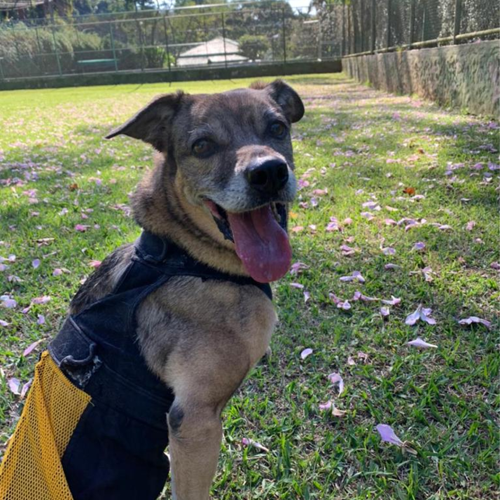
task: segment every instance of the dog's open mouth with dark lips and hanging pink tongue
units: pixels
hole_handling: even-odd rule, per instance
[[[234,242],[246,271],[260,283],[282,277],[291,263],[286,234],[286,207],[271,202],[246,212],[226,212],[209,199],[204,200],[224,238]]]

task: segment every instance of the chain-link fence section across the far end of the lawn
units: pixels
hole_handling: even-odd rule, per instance
[[[283,1],[0,22],[0,78],[338,59],[315,9]]]

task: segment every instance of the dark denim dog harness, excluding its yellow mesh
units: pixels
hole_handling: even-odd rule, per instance
[[[254,285],[268,283],[219,272],[173,242],[142,232],[113,291],[68,316],[48,350],[91,403],[62,456],[74,500],[153,500],[165,483],[166,413],[174,394],[145,364],[137,345],[136,309],[172,276]]]

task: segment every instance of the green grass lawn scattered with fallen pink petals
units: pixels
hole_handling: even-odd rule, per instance
[[[213,497],[498,498],[498,124],[342,74],[287,81],[306,108],[289,226],[304,266],[273,285],[273,354],[224,411]],[[91,261],[139,233],[128,194],[152,151],[103,135],[155,94],[249,82],[0,93],[0,294],[16,301],[0,307],[0,453],[23,404],[12,377],[17,391],[31,378]],[[365,281],[340,280],[353,271]],[[435,324],[405,324],[419,304]],[[469,316],[491,327],[458,323]],[[382,442],[380,423],[404,445]]]

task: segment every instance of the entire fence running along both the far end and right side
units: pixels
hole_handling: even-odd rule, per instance
[[[9,20],[0,10],[0,79],[334,60],[500,32],[497,0],[323,0],[302,8],[267,0],[51,14]]]

